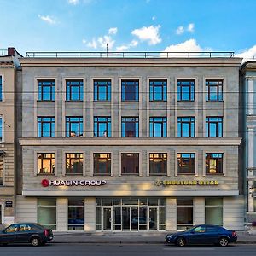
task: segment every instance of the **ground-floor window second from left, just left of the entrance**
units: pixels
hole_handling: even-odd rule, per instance
[[[84,230],[83,199],[68,199],[68,230]]]

